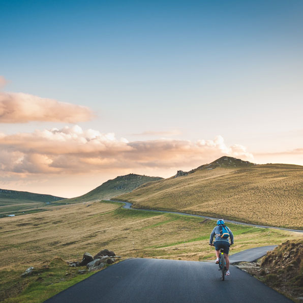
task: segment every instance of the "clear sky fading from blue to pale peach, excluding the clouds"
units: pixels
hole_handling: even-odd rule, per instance
[[[302,1],[0,5],[4,92],[86,106],[95,118],[77,123],[83,130],[130,142],[220,135],[257,163],[303,165]],[[33,120],[0,129],[66,125],[73,126]]]

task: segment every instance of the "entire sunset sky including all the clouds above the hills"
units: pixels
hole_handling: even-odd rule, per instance
[[[301,0],[0,0],[0,28],[2,189],[303,165]]]

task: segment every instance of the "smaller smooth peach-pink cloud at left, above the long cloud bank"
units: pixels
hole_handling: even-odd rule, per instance
[[[78,123],[92,118],[92,111],[84,106],[24,93],[0,92],[0,123],[31,121]]]

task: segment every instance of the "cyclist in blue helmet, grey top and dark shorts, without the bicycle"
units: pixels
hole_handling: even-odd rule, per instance
[[[230,244],[229,244],[228,236],[226,238],[222,237],[223,227],[224,227],[224,230],[226,228],[229,232]],[[229,247],[231,245],[233,245],[233,234],[232,234],[231,230],[227,226],[224,225],[224,220],[223,219],[217,221],[217,226],[215,226],[213,231],[211,232],[210,237],[209,237],[209,245],[213,245],[214,236],[216,236],[215,242],[214,242],[214,246],[216,248],[216,257],[217,257],[216,264],[219,263],[220,249],[223,248],[224,249],[224,257],[225,257],[225,261],[226,261],[226,270],[227,270],[226,271],[226,276],[229,276],[230,272],[229,272],[228,253],[229,253]]]

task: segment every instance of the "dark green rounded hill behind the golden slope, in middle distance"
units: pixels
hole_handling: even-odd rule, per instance
[[[139,187],[142,184],[161,180],[161,177],[149,177],[145,175],[137,175],[130,173],[125,176],[118,176],[112,180],[108,180],[102,185],[98,186],[94,190],[71,199],[65,199],[63,203],[80,203],[80,202],[88,202],[88,201],[100,201],[102,199],[110,199],[114,196],[129,193]]]

